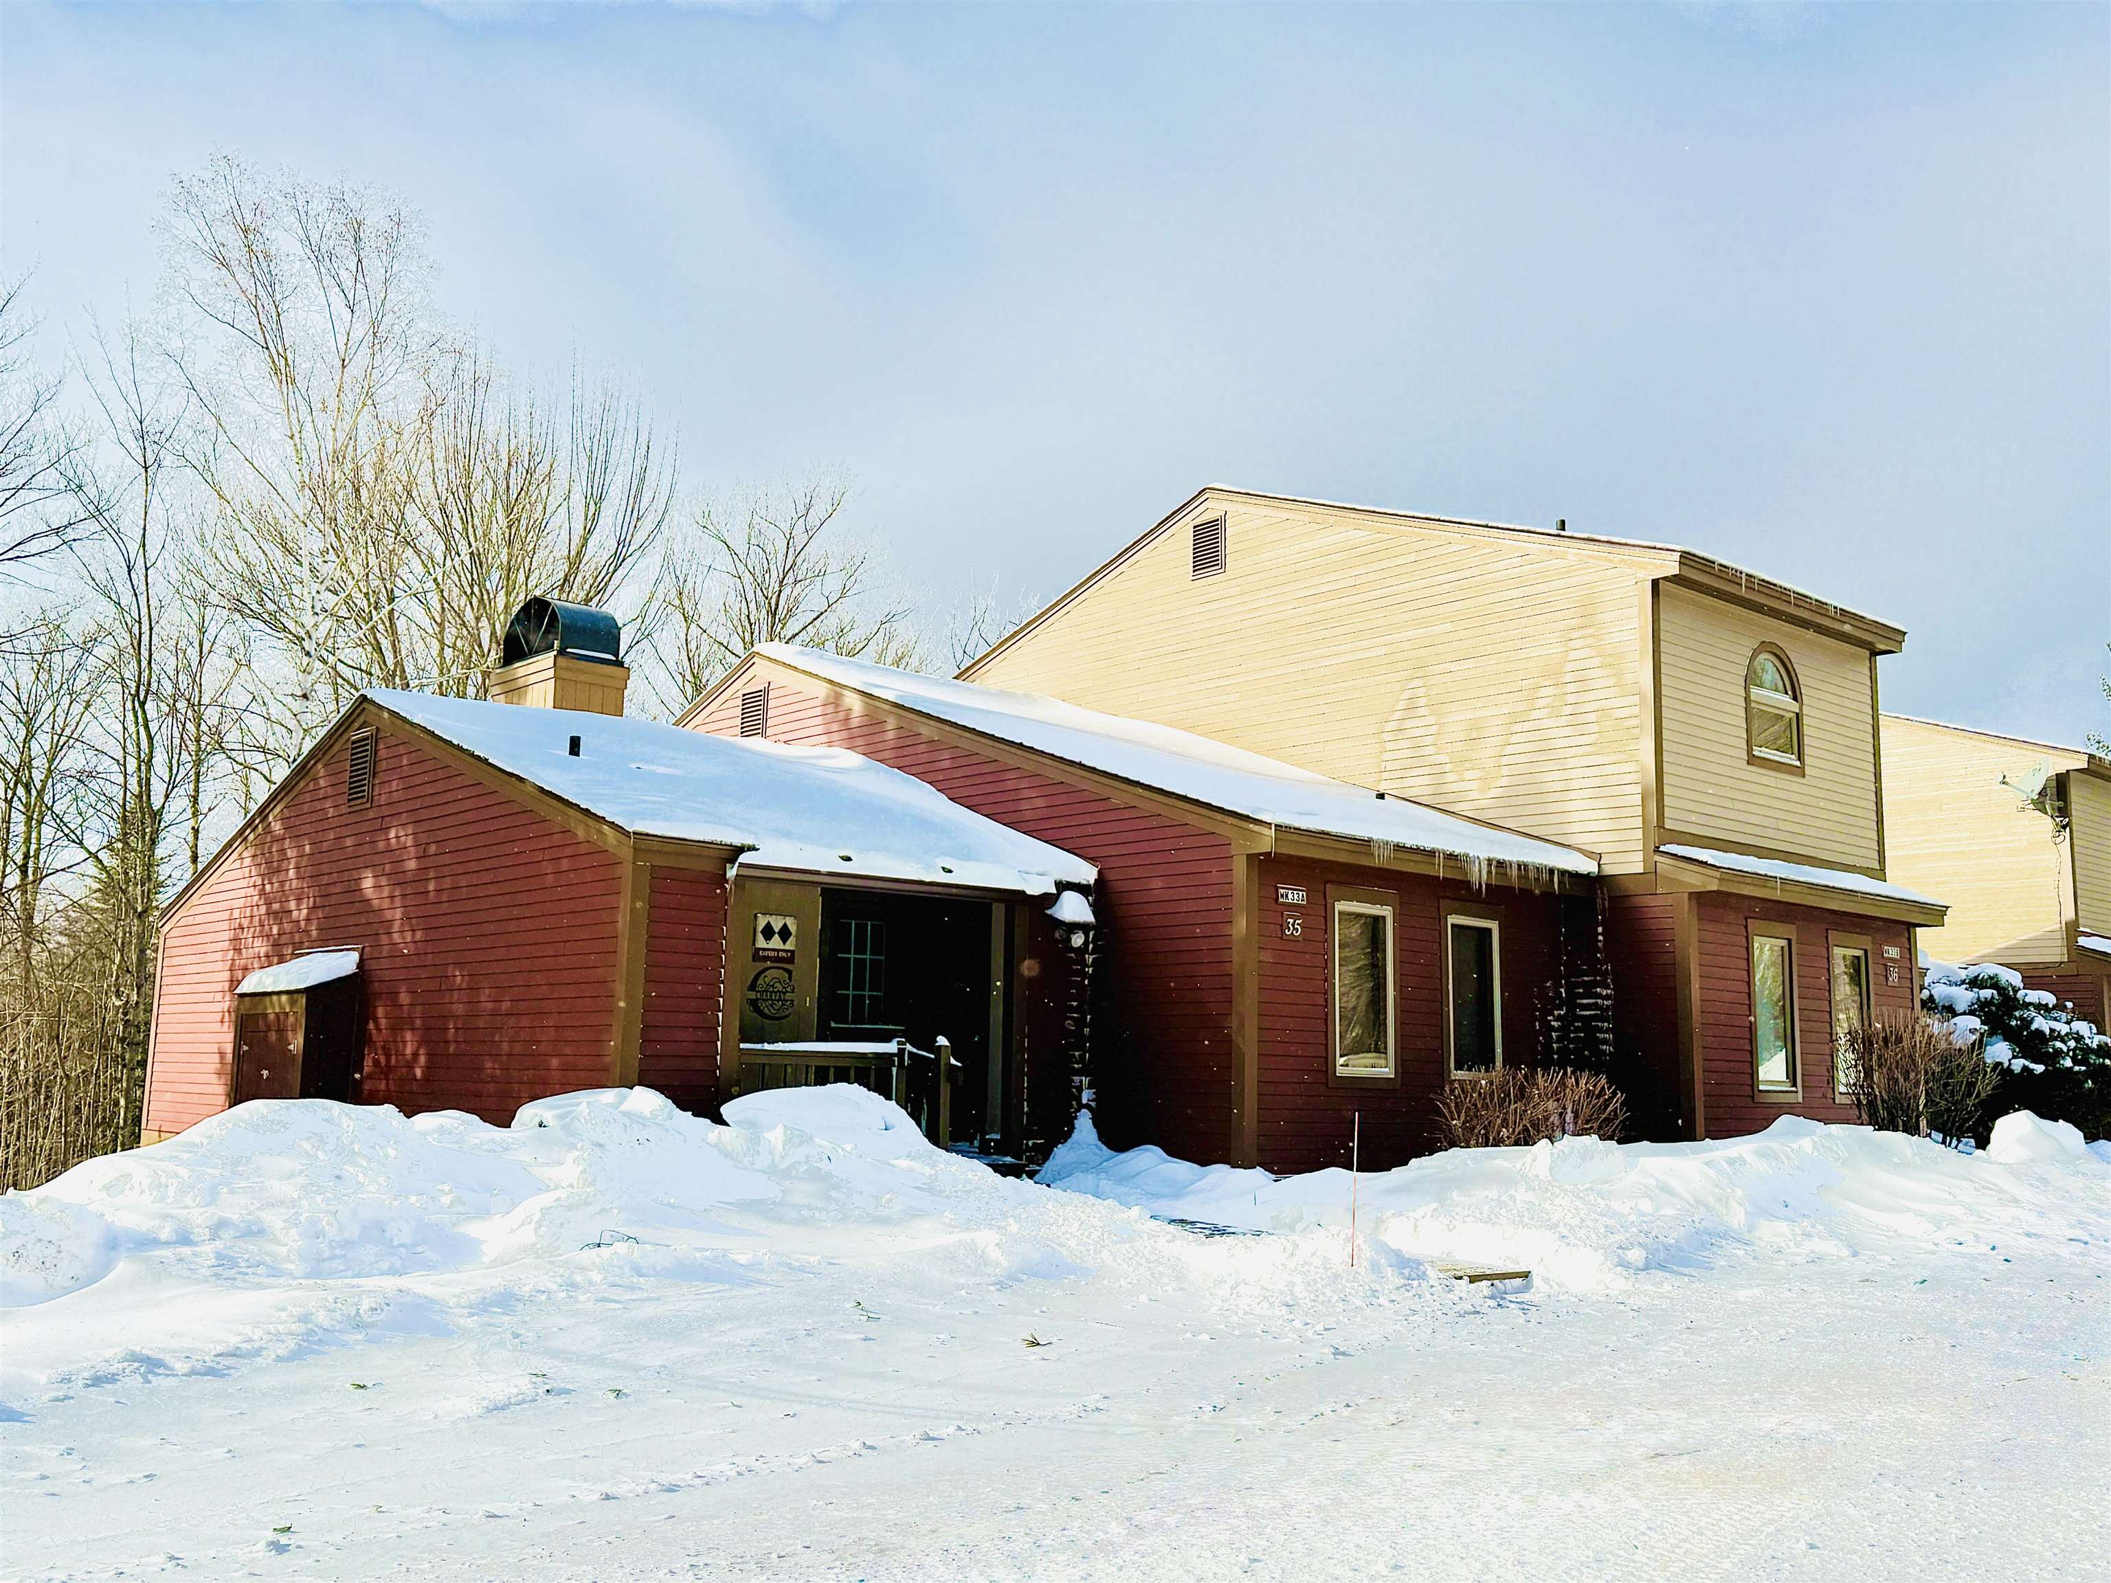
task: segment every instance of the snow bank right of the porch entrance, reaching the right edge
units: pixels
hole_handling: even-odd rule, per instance
[[[2075,1178],[2098,1193],[2073,1201]],[[1191,1165],[1159,1148],[1112,1152],[1085,1117],[1039,1180],[1153,1216],[1307,1233],[1349,1220],[1343,1169],[1275,1178]],[[1801,1256],[1891,1252],[1959,1237],[2111,1237],[2111,1161],[2065,1123],[2029,1112],[1995,1146],[1959,1155],[1868,1127],[1784,1117],[1706,1144],[1566,1138],[1431,1155],[1357,1182],[1362,1224],[1406,1258],[1530,1269],[1549,1290],[1609,1290],[1640,1271],[1691,1271],[1763,1245]],[[2100,1224],[2098,1224],[2100,1222]]]

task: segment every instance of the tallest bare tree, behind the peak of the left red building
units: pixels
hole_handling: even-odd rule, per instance
[[[258,711],[289,756],[361,688],[424,680],[399,599],[454,348],[414,222],[357,188],[220,156],[175,186],[163,232],[188,310],[171,365],[201,420],[188,460],[217,509],[211,578],[283,671]]]

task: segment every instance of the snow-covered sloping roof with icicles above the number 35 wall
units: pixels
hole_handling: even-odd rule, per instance
[[[756,652],[933,720],[1267,825],[1442,853],[1469,863],[1598,872],[1598,859],[1573,846],[1332,781],[1188,730],[790,644],[762,644]]]

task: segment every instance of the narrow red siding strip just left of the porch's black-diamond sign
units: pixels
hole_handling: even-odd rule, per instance
[[[646,1005],[638,1081],[684,1110],[716,1114],[726,988],[726,876],[654,867],[646,918]]]

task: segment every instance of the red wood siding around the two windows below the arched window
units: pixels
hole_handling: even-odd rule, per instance
[[[1710,1138],[1765,1131],[1777,1117],[1853,1121],[1853,1106],[1832,1091],[1832,990],[1828,933],[1870,941],[1870,977],[1877,1015],[1910,1013],[1917,990],[1913,941],[1906,924],[1860,918],[1851,912],[1790,908],[1754,897],[1701,893],[1699,908],[1699,1041],[1704,1121]],[[1761,1095],[1752,1070],[1752,956],[1748,920],[1796,929],[1796,1043],[1801,1095]],[[1898,956],[1887,960],[1885,946]],[[1898,969],[1887,984],[1885,969]]]

